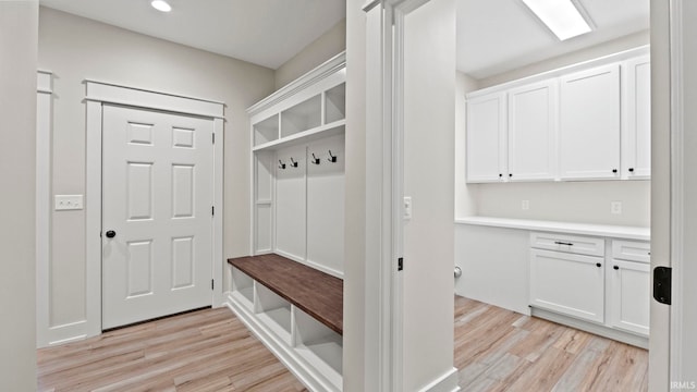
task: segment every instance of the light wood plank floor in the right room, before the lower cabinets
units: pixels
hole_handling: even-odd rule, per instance
[[[648,352],[455,296],[455,367],[463,391],[648,389]]]

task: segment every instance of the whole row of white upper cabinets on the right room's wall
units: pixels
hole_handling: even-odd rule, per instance
[[[648,47],[466,98],[469,183],[651,176]]]

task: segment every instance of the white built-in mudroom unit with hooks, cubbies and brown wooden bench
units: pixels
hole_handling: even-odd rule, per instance
[[[247,109],[252,256],[229,260],[229,306],[311,391],[343,388],[345,68]]]

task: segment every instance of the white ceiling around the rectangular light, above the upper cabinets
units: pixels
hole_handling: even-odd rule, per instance
[[[457,70],[512,71],[649,28],[649,0],[575,0],[594,30],[560,41],[521,0],[457,0]]]

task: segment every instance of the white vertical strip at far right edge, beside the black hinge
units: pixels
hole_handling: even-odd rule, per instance
[[[670,1],[670,390],[697,389],[697,1]],[[653,326],[651,326],[653,328]]]

